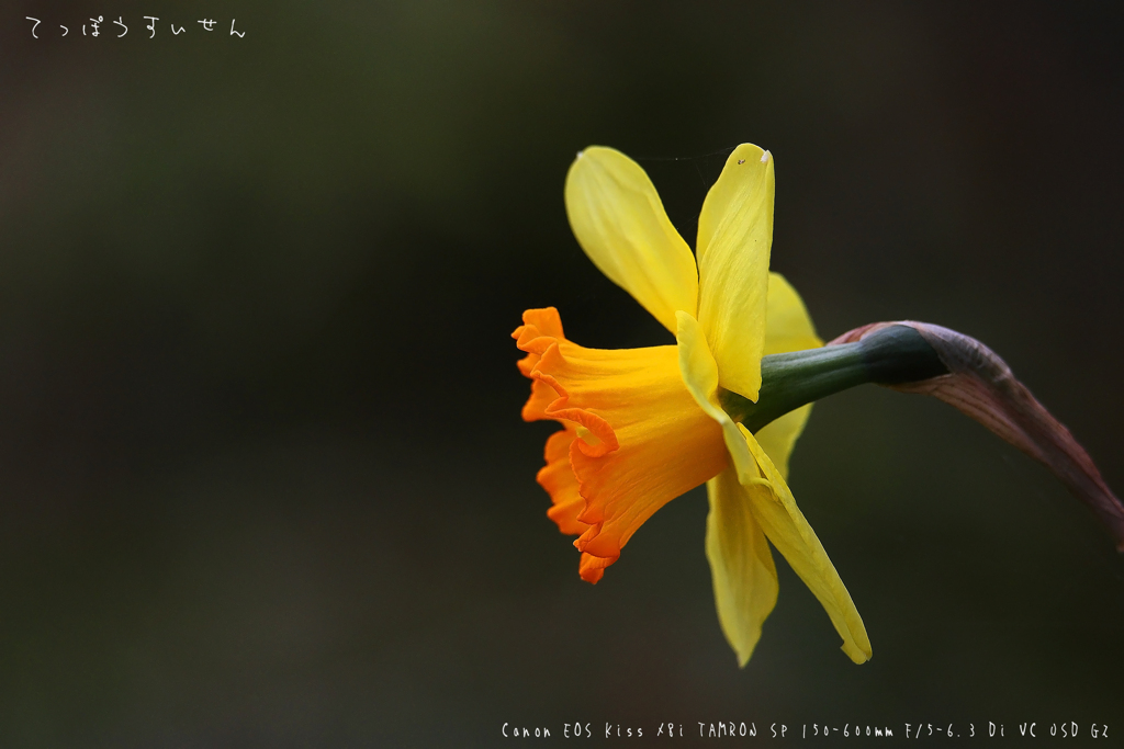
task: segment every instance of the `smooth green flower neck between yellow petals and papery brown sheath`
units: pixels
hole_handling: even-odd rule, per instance
[[[718,401],[755,433],[789,411],[855,385],[900,385],[948,373],[921,334],[891,326],[854,344],[765,356],[756,403],[731,391],[720,391]]]

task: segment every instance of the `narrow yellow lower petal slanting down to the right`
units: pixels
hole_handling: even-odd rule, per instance
[[[754,519],[827,612],[835,631],[843,638],[843,652],[856,664],[865,663],[871,656],[870,639],[851,594],[827,558],[816,532],[796,506],[792,492],[780,472],[753,436],[741,424],[738,427],[761,469],[761,477],[768,482],[750,487]]]

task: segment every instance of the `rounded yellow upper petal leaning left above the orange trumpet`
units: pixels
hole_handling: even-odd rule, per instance
[[[601,146],[578,154],[565,179],[565,210],[593,265],[668,330],[676,331],[677,311],[695,314],[695,258],[636,162]]]

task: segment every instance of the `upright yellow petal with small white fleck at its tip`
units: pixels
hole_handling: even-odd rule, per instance
[[[772,245],[773,159],[744,144],[726,161],[699,214],[698,321],[726,390],[758,400]]]

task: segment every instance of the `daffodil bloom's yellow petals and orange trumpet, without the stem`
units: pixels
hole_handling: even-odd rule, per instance
[[[861,664],[871,656],[862,619],[786,483],[810,404],[756,435],[723,407],[758,401],[763,356],[823,345],[800,296],[769,272],[773,193],[770,153],[735,148],[703,204],[692,255],[635,162],[602,147],[579,154],[565,183],[578,243],[676,345],[584,348],[565,338],[556,310],[528,310],[513,334],[532,380],[523,417],[563,426],[547,439],[538,482],[547,514],[579,536],[583,579],[599,581],[645,520],[706,483],[706,555],[738,663],[777,602],[771,542]]]

